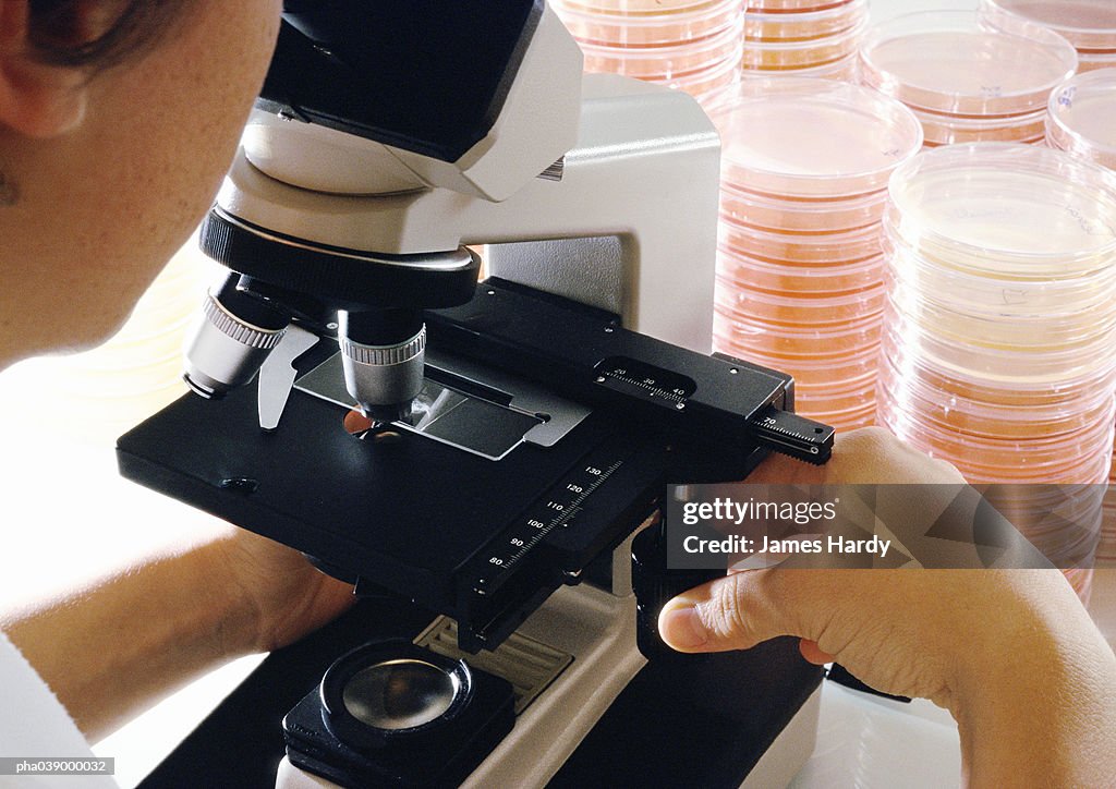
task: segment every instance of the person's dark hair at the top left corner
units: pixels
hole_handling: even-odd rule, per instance
[[[109,68],[153,47],[185,2],[30,0],[30,44],[36,57],[52,66]]]

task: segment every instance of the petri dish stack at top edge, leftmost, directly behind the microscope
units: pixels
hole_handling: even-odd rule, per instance
[[[739,80],[741,0],[551,0],[585,70],[668,85],[700,99]]]

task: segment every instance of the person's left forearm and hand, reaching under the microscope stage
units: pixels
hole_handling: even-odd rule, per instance
[[[202,671],[290,643],[352,598],[297,552],[238,530],[2,627],[96,741]]]

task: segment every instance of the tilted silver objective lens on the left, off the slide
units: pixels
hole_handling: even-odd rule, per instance
[[[186,384],[203,397],[220,397],[256,377],[286,328],[262,329],[227,310],[212,294],[186,345]]]

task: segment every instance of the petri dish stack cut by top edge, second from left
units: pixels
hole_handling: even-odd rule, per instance
[[[868,0],[744,0],[745,75],[856,81]]]

